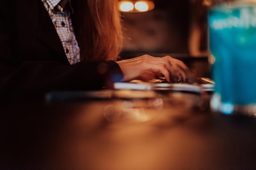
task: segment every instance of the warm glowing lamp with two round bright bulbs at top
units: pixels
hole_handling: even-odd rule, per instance
[[[155,8],[153,0],[119,0],[119,10],[122,12],[146,12]]]

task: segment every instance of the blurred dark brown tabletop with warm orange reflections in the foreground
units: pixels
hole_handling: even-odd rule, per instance
[[[213,113],[208,100],[178,92],[2,107],[0,169],[256,169],[255,118]]]

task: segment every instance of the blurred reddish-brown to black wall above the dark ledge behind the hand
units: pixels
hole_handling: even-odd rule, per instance
[[[155,9],[144,13],[122,13],[124,52],[189,54],[195,2],[200,0],[155,0]],[[202,14],[201,14],[202,15]],[[206,37],[204,37],[205,39]],[[201,41],[201,40],[200,40]],[[198,42],[195,42],[198,43]],[[193,48],[198,44],[194,44]],[[206,47],[206,40],[200,42]],[[200,45],[199,44],[199,45]],[[203,49],[205,50],[205,49]]]

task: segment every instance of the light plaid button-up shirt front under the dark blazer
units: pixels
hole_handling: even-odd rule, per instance
[[[80,49],[74,34],[70,11],[57,5],[61,0],[42,0],[56,28],[70,64],[80,61]],[[71,9],[72,11],[72,9]]]

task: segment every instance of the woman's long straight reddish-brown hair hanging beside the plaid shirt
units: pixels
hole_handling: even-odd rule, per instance
[[[117,0],[72,0],[72,22],[81,60],[117,60],[122,47]]]

